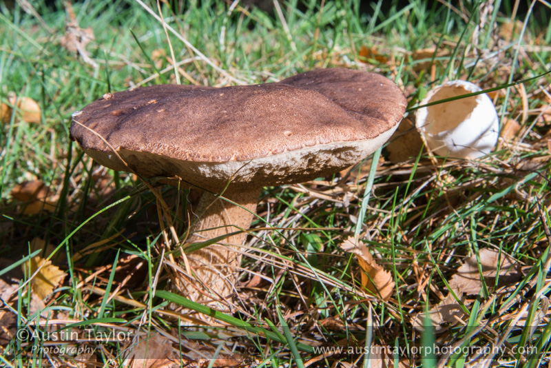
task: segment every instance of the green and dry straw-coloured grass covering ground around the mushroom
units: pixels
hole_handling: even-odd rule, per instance
[[[0,294],[9,285],[19,287],[0,304],[0,360],[10,367],[76,365],[81,358],[80,367],[118,366],[133,336],[157,331],[171,341],[183,366],[336,367],[340,360],[346,367],[378,367],[364,354],[369,346],[388,347],[386,358],[396,367],[548,362],[551,114],[544,109],[551,101],[543,91],[551,92],[551,76],[533,77],[551,69],[550,10],[543,2],[524,13],[508,2],[498,9],[498,3],[492,8],[465,1],[456,9],[380,1],[360,12],[360,1],[291,0],[268,14],[222,1],[190,1],[184,9],[176,3],[176,12],[162,6],[167,26],[180,35],[167,29],[168,43],[149,12],[158,14],[155,3],[83,1],[73,10],[79,27],[93,30],[86,50],[96,66],[60,44],[61,2],[55,8],[33,2],[40,17],[0,3],[0,99],[7,103],[13,91],[37,101],[42,111],[41,123],[10,119],[0,134],[0,278],[6,282]],[[510,19],[520,20],[512,37],[500,33]],[[362,47],[373,50],[367,59],[359,57]],[[444,55],[435,54],[428,60],[433,66],[419,70],[423,60],[410,55],[421,48]],[[518,121],[521,130],[477,161],[423,150],[393,163],[384,148],[380,165],[366,160],[349,174],[264,188],[231,312],[165,290],[173,269],[161,254],[168,259],[163,249],[174,244],[169,232],[163,234],[156,195],[130,174],[105,170],[71,143],[72,112],[105,92],[143,81],[176,83],[176,75],[181,83],[225,86],[334,66],[395,80],[408,96],[408,119],[426,92],[447,79],[468,79],[483,89],[530,79],[492,95],[501,121]],[[14,190],[33,180],[48,188],[53,208],[25,214],[29,203],[14,198]],[[174,228],[185,234],[194,192],[159,188]],[[395,280],[387,302],[362,289],[357,260],[339,247],[355,234]],[[42,303],[32,298],[31,272],[20,271],[37,255],[33,238],[53,245],[52,262],[67,274]],[[466,258],[476,256],[484,272],[480,249],[486,248],[512,257],[517,278],[506,285],[500,277],[483,278],[478,295],[454,294],[463,311],[457,323],[413,327],[416,314],[430,313],[448,296]],[[216,324],[190,329],[178,323],[188,314],[170,304],[209,314]],[[42,355],[36,348],[48,339],[17,336],[18,330],[53,331],[39,320],[80,338],[85,331],[124,334],[108,342],[58,341],[54,347],[81,348],[81,354]],[[320,344],[331,349],[321,354]],[[158,358],[161,350],[155,351]]]

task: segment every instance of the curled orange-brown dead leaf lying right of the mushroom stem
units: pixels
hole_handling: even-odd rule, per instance
[[[357,257],[360,268],[362,268],[362,286],[380,296],[383,300],[388,300],[394,290],[394,280],[392,274],[385,271],[380,265],[377,265],[368,247],[363,244],[356,245],[352,236],[344,241],[340,248],[345,252],[352,252]]]

